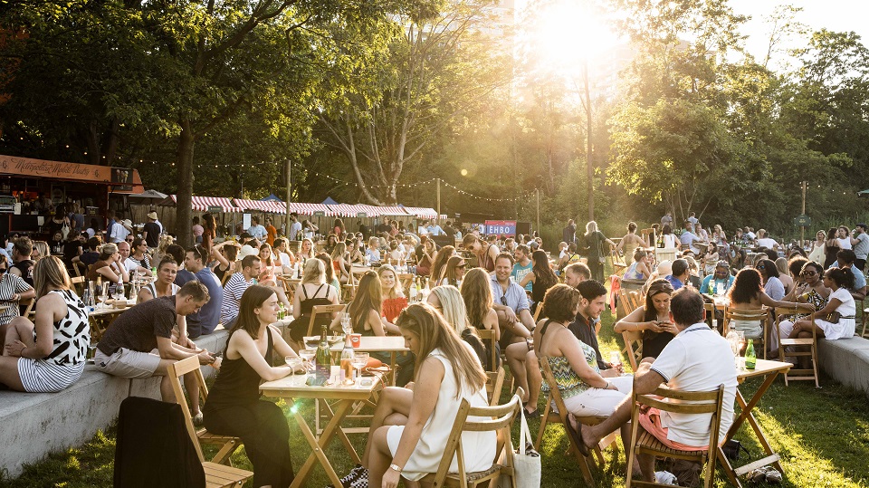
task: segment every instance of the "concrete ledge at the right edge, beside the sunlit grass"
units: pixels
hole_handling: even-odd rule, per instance
[[[869,340],[852,337],[817,341],[818,365],[830,378],[869,397]]]

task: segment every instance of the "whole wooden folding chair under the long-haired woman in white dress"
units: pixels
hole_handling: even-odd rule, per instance
[[[446,440],[444,455],[437,466],[437,472],[427,474],[421,480],[423,483],[432,483],[435,488],[442,486],[459,486],[461,488],[473,488],[484,484],[488,486],[492,481],[497,482],[501,475],[509,476],[513,480],[513,443],[511,440],[511,426],[519,409],[522,407],[520,395],[514,395],[511,400],[495,407],[471,407],[468,400],[463,399],[459,411],[455,415],[453,430],[450,431]],[[477,417],[479,420],[472,420]],[[464,451],[462,448],[463,432],[491,432],[498,435],[498,447],[495,450],[495,458],[492,467],[477,473],[468,473],[464,468]],[[521,440],[520,442],[525,442]],[[459,472],[448,474],[453,459],[458,461]],[[501,464],[499,464],[499,461]]]

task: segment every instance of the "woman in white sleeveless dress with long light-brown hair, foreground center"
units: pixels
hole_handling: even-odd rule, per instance
[[[462,400],[488,405],[480,361],[431,305],[411,305],[397,325],[416,355],[414,389],[383,389],[362,464],[342,480],[345,486],[363,480],[366,486],[396,486],[399,477],[407,484],[435,473]],[[468,473],[492,466],[494,432],[465,432],[461,442]],[[450,471],[457,471],[455,461]]]

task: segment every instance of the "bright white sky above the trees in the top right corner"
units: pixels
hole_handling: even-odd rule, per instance
[[[749,35],[746,47],[757,59],[763,59],[767,49],[769,26],[764,24],[763,17],[772,14],[778,5],[802,7],[803,12],[796,15],[796,20],[814,31],[822,28],[835,32],[854,31],[869,45],[869,2],[865,0],[731,0],[734,12],[752,17],[741,30]]]

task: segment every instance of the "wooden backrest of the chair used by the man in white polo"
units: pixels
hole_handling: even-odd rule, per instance
[[[645,405],[676,414],[710,414],[709,453],[711,457],[715,456],[715,449],[718,446],[723,400],[724,385],[719,385],[718,388],[711,391],[680,391],[667,387],[658,387],[653,393],[645,395],[636,393],[636,388],[634,388],[635,405]],[[634,422],[637,421],[637,413],[637,408],[635,407]],[[632,442],[635,443],[636,439],[634,438]]]

